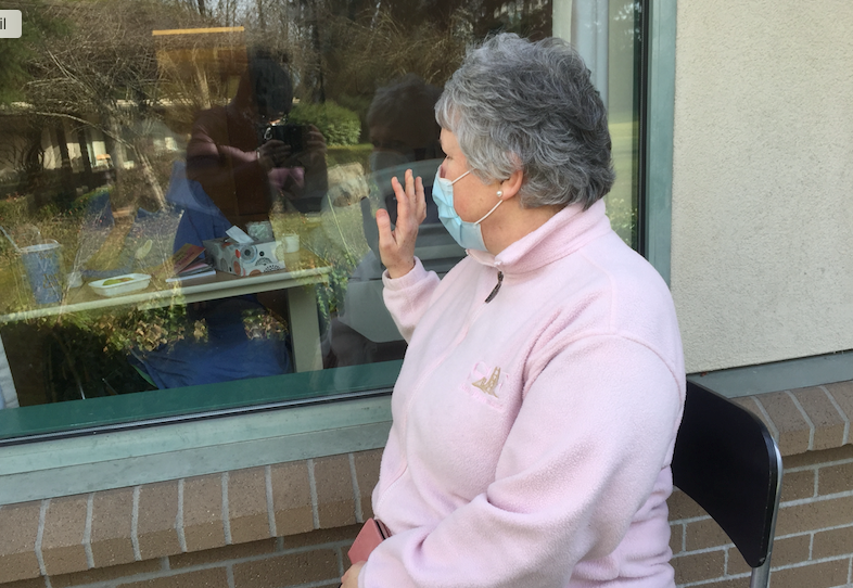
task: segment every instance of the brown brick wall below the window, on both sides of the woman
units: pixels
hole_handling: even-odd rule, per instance
[[[747,397],[779,440],[773,588],[853,586],[853,382]],[[0,588],[338,586],[381,451],[0,508]],[[682,587],[748,586],[720,527],[676,491]]]

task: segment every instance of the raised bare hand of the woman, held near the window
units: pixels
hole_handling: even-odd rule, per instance
[[[418,238],[418,227],[426,218],[423,180],[407,169],[404,181],[405,187],[400,186],[397,178],[391,179],[397,199],[397,223],[393,231],[387,210],[377,210],[379,255],[391,278],[405,276],[415,267],[415,240]]]

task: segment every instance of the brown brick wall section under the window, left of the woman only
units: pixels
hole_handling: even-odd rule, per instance
[[[381,455],[0,507],[0,587],[336,587]]]

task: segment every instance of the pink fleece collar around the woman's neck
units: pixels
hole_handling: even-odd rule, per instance
[[[604,215],[604,201],[599,200],[587,210],[580,204],[566,206],[545,225],[497,255],[475,250],[468,250],[468,255],[504,273],[523,273],[571,255],[609,232],[610,220]]]

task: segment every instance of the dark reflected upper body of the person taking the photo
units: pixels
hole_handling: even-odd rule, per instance
[[[326,140],[317,127],[281,125],[293,87],[267,54],[250,57],[233,100],[202,112],[187,146],[187,177],[233,225],[266,220],[277,201],[319,210],[326,193]]]

